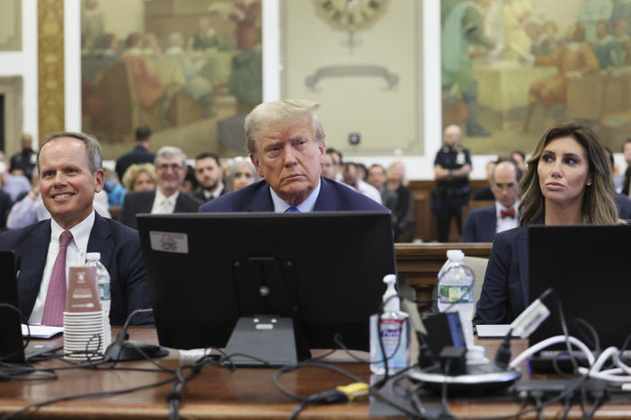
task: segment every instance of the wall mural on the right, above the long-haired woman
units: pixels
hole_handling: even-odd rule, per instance
[[[442,0],[443,125],[473,153],[532,151],[555,121],[631,136],[631,1]]]

